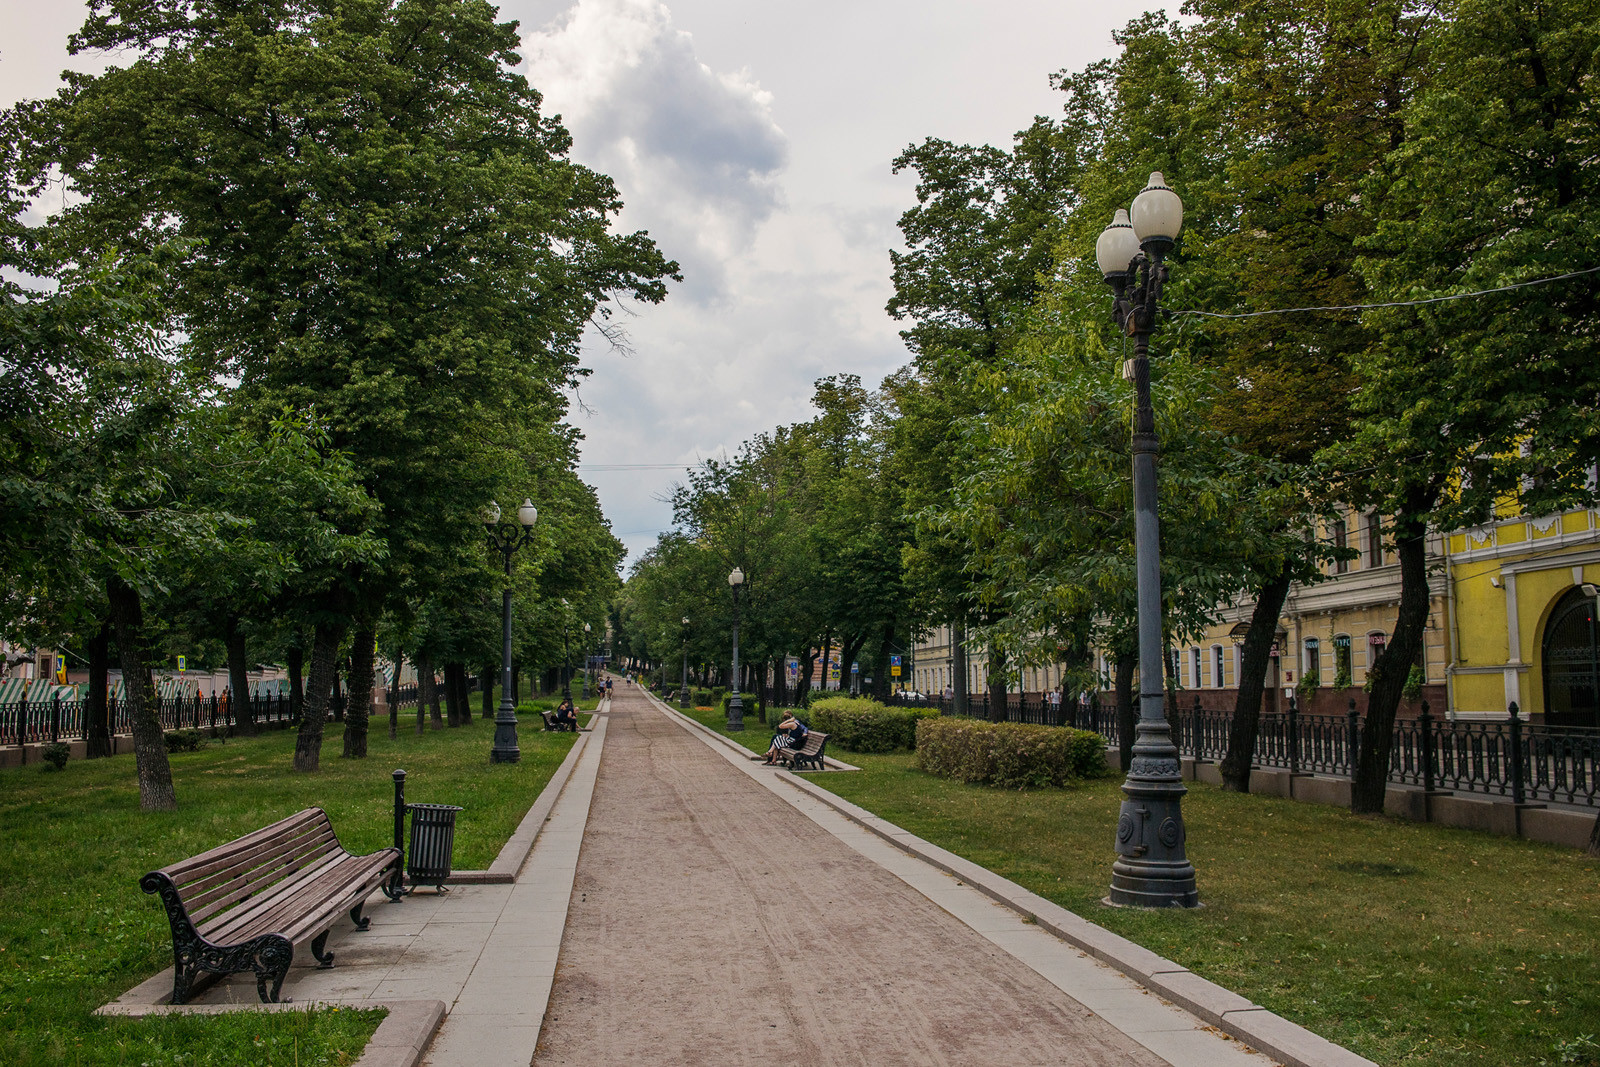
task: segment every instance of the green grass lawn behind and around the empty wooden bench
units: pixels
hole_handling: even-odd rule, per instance
[[[352,1064],[382,1013],[242,1013],[165,1019],[90,1014],[171,965],[171,934],[139,875],[301,808],[328,809],[341,843],[392,843],[394,784],[466,808],[454,865],[488,867],[573,744],[522,725],[522,761],[490,765],[493,723],[400,737],[374,721],[362,761],[339,758],[328,723],[322,771],[291,769],[294,734],[213,742],[173,757],[176,813],[142,814],[131,755],[0,771],[0,1064],[43,1067],[318,1067]]]

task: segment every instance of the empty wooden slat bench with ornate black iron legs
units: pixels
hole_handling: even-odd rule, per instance
[[[349,912],[366,929],[366,896],[398,870],[395,848],[344,851],[322,808],[152,870],[139,888],[162,897],[173,926],[171,1003],[184,1003],[202,973],[242,971],[256,973],[262,1003],[277,1003],[294,947],[309,941],[317,963],[333,966],[323,947],[334,920]]]

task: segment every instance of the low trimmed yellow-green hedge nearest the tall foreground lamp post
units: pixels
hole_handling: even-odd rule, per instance
[[[917,766],[971,785],[1040,789],[1101,777],[1106,739],[1086,729],[925,718],[917,723]]]

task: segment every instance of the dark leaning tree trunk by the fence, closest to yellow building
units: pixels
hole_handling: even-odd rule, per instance
[[[1411,517],[1395,520],[1395,549],[1400,555],[1400,611],[1389,646],[1368,670],[1371,694],[1362,723],[1362,749],[1350,782],[1350,811],[1379,814],[1389,789],[1389,747],[1394,741],[1395,709],[1405,691],[1411,664],[1422,648],[1427,627],[1427,526],[1414,515],[1421,501],[1406,501]]]

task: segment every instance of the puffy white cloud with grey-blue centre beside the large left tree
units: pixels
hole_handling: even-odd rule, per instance
[[[782,208],[789,141],[771,94],[701,62],[659,0],[578,0],[523,54],[574,155],[616,179],[624,224],[683,266],[675,299],[726,299],[730,266]]]

